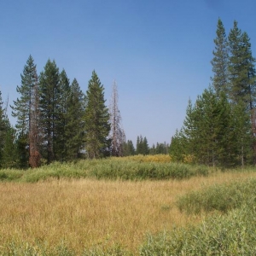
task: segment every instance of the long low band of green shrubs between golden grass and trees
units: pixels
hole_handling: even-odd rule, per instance
[[[49,178],[90,177],[96,179],[141,181],[207,176],[209,172],[207,166],[189,166],[186,164],[161,162],[159,156],[155,157],[157,161],[154,161],[152,157],[138,156],[137,158],[80,160],[77,163],[64,164],[55,162],[35,170],[3,170],[0,171],[0,180],[34,183]],[[151,161],[148,161],[149,159]]]

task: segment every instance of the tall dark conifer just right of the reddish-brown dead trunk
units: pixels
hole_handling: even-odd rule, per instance
[[[40,125],[44,139],[44,156],[49,164],[55,160],[56,126],[60,119],[60,77],[55,61],[48,60],[39,78]]]

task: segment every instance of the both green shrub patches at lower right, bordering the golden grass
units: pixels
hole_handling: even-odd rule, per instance
[[[218,210],[201,224],[148,235],[140,255],[256,255],[256,178],[185,195],[180,209]]]

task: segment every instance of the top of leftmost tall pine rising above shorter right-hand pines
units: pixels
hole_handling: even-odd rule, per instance
[[[224,25],[220,19],[218,19],[217,37],[214,39],[215,50],[213,50],[212,72],[214,74],[212,78],[212,85],[219,96],[223,91],[228,93],[228,42]]]

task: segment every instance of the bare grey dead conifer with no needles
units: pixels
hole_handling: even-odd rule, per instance
[[[110,138],[111,138],[111,155],[123,156],[123,143],[125,142],[125,131],[121,125],[121,114],[118,107],[119,95],[115,81],[113,81],[112,96],[109,108],[110,114]]]

